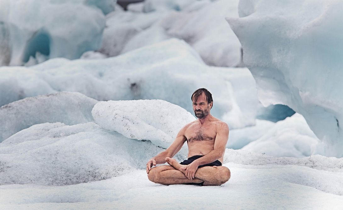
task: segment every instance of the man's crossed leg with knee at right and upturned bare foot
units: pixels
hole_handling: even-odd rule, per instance
[[[176,159],[167,157],[166,161],[170,166],[181,173],[186,173],[185,170],[181,169],[185,165],[179,164]],[[225,166],[204,166],[202,168],[198,168],[194,177],[204,181],[203,185],[208,186],[224,184],[230,179],[230,176],[230,170]]]

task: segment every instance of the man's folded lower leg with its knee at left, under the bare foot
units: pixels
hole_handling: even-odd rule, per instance
[[[184,173],[176,170],[173,166],[153,167],[148,173],[148,178],[152,182],[167,185],[203,182],[200,179],[189,180]]]

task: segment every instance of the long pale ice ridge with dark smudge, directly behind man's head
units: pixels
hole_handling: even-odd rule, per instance
[[[2,67],[0,74],[1,105],[68,91],[99,101],[162,99],[193,113],[190,96],[205,87],[213,95],[213,116],[230,128],[255,124],[258,100],[249,70],[209,67],[178,39],[107,59],[56,58],[30,68]]]

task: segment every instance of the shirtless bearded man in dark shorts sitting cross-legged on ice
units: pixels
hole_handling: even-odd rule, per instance
[[[209,186],[221,185],[230,179],[230,170],[221,166],[229,128],[226,123],[210,114],[213,100],[207,89],[196,90],[191,99],[194,114],[198,119],[181,128],[169,148],[147,162],[146,173],[152,182]],[[186,141],[188,159],[178,163],[171,157]],[[156,166],[166,162],[169,166]]]

